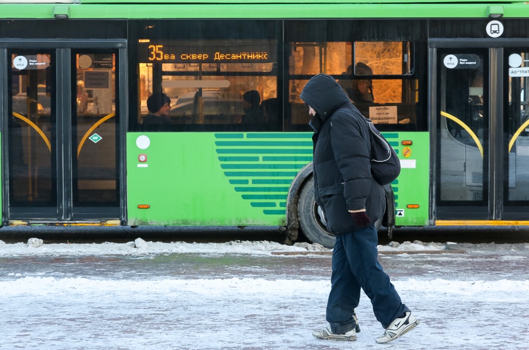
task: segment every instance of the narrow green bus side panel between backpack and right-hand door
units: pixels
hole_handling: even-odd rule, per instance
[[[397,150],[400,175],[391,183],[395,194],[395,226],[428,225],[430,189],[430,141],[428,132],[384,132],[384,137]],[[403,140],[411,140],[403,146]],[[418,208],[408,208],[417,204]]]

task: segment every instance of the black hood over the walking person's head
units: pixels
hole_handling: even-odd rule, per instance
[[[316,111],[322,121],[344,103],[351,103],[336,80],[326,74],[308,80],[299,97]]]

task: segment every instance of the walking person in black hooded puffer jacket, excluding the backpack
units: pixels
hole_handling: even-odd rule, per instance
[[[314,197],[327,228],[336,235],[331,292],[318,339],[356,340],[354,309],[360,288],[371,300],[385,328],[377,343],[387,343],[419,324],[402,303],[377,256],[378,232],[373,222],[384,214],[384,189],[371,177],[367,123],[333,77],[318,74],[299,96],[313,116]]]

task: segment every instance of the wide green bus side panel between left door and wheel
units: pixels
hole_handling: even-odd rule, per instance
[[[285,225],[310,135],[127,133],[128,225]]]

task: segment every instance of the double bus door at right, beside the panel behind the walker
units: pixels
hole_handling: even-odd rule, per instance
[[[528,220],[529,47],[469,47],[431,49],[433,217]]]

